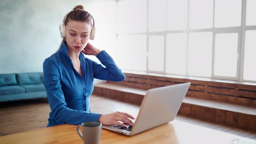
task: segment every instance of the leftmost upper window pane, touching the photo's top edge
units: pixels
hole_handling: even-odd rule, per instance
[[[147,31],[147,0],[118,1],[118,32]]]

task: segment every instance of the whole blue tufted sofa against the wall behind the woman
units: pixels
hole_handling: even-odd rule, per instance
[[[43,72],[0,74],[0,102],[47,98]]]

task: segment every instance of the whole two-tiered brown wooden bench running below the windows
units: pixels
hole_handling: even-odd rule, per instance
[[[140,105],[147,89],[191,82],[178,115],[256,131],[256,86],[125,73],[123,82],[94,85],[93,94]]]

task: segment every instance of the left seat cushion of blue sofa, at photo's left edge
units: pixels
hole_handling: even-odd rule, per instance
[[[0,87],[0,95],[10,95],[18,93],[25,93],[25,88],[19,85],[9,85]]]

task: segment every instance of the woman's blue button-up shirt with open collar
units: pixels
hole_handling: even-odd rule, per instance
[[[90,95],[93,79],[123,81],[125,75],[104,51],[96,56],[99,64],[79,54],[82,76],[75,70],[68,56],[66,42],[61,49],[43,62],[43,83],[51,108],[47,127],[59,124],[82,124],[98,121],[102,114],[91,113]]]

